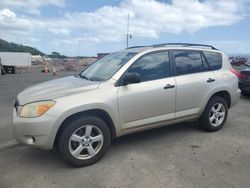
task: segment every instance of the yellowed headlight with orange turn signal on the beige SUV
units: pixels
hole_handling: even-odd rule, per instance
[[[54,106],[54,104],[55,101],[40,101],[26,104],[21,109],[20,117],[39,117],[47,112],[52,106]]]

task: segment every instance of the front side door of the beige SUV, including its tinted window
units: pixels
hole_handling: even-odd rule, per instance
[[[126,73],[138,73],[141,82],[120,86],[118,105],[123,130],[175,118],[175,79],[168,51],[146,54]]]

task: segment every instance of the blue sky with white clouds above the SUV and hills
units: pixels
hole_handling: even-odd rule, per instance
[[[46,54],[95,56],[129,46],[211,44],[250,54],[250,0],[0,0],[0,38]]]

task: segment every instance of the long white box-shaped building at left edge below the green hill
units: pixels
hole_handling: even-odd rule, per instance
[[[0,52],[3,66],[24,67],[31,65],[31,54],[26,52]]]

